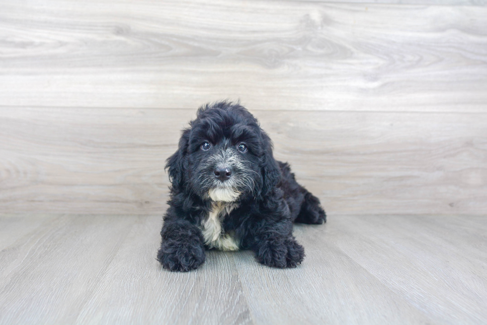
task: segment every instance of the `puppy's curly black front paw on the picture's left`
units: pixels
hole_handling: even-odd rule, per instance
[[[161,244],[157,260],[163,268],[171,271],[187,272],[205,261],[205,251],[200,243],[166,240]]]

